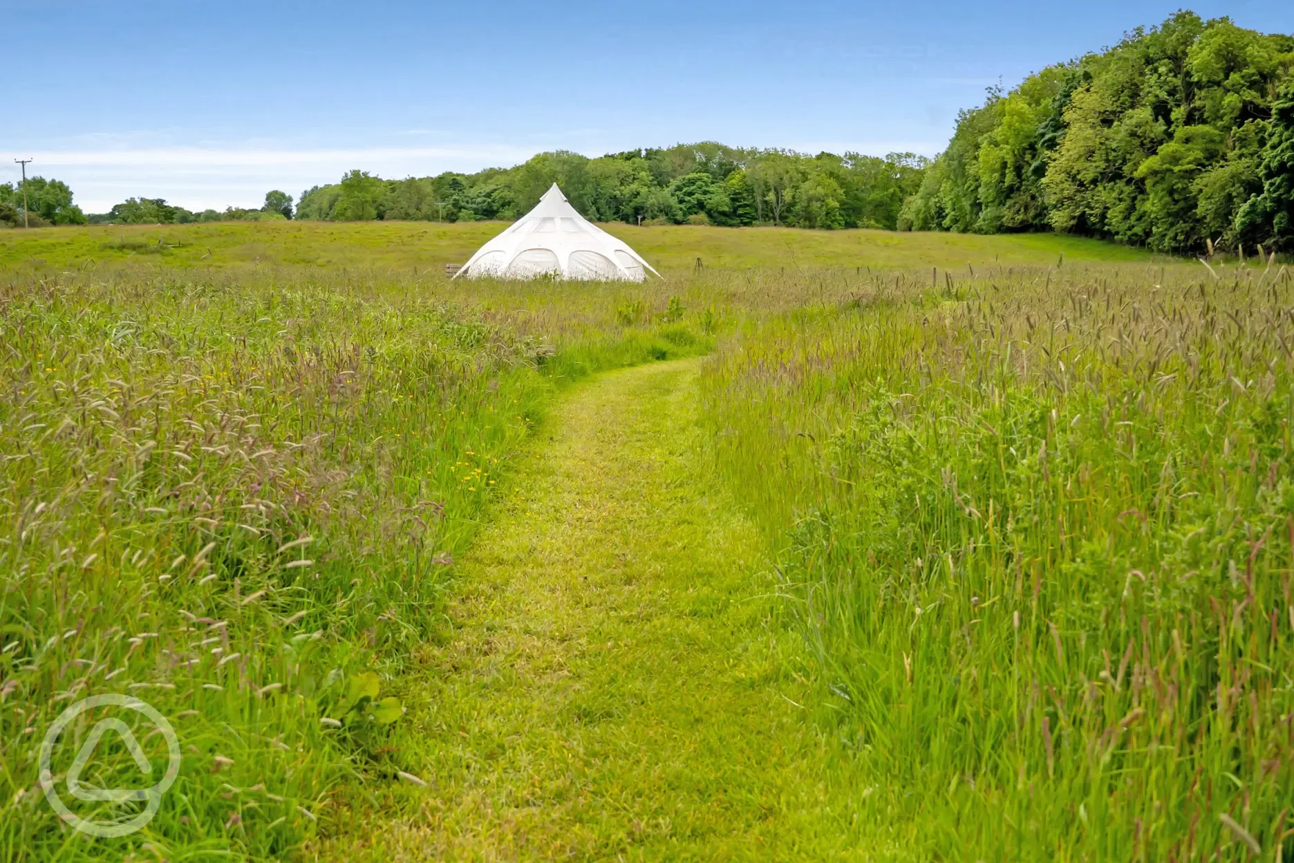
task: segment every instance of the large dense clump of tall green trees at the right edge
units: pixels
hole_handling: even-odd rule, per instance
[[[899,228],[1294,248],[1291,70],[1294,36],[1179,12],[963,111]]]

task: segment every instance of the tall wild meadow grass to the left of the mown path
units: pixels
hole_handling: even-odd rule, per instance
[[[395,776],[360,675],[388,697],[440,631],[444,573],[550,393],[708,347],[615,307],[507,318],[391,283],[54,277],[0,301],[9,859],[299,849],[338,789]],[[102,691],[172,717],[184,763],[146,832],[96,846],[34,744]],[[93,781],[137,778],[111,752]]]

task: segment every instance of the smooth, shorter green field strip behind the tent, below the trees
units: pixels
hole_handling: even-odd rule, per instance
[[[440,268],[462,263],[505,223],[220,223],[40,228],[0,232],[0,267],[157,261],[170,267],[265,263],[316,267]],[[886,230],[708,228],[604,229],[657,269],[707,267],[964,267],[991,261],[1046,264],[1143,261],[1137,248],[1055,234],[978,235]]]

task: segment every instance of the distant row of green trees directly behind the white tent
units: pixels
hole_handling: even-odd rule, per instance
[[[889,228],[927,159],[911,153],[805,155],[704,141],[600,158],[541,153],[514,168],[382,180],[351,171],[302,193],[298,219],[516,219],[556,182],[594,221]]]

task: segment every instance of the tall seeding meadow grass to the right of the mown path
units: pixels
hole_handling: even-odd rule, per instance
[[[877,283],[707,366],[903,857],[1288,846],[1294,290],[1200,269]]]

